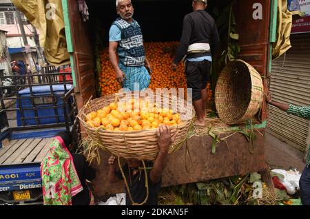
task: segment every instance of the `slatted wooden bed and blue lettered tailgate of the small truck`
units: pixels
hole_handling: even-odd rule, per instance
[[[11,140],[0,149],[0,191],[41,187],[40,163],[52,138]]]

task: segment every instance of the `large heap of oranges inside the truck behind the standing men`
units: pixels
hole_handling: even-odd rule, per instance
[[[176,52],[177,41],[149,42],[145,43],[145,54],[152,65],[153,72],[149,88],[187,88],[185,78],[185,65],[180,63],[177,71],[172,71],[172,60]],[[101,74],[100,85],[101,95],[114,94],[121,89],[116,81],[115,72],[109,59],[108,49],[100,53]]]

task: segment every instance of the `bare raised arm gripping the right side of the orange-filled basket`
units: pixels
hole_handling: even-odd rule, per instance
[[[168,126],[161,125],[157,130],[159,153],[154,166],[149,173],[152,183],[161,180],[161,174],[167,165],[169,146],[172,144],[171,130]]]

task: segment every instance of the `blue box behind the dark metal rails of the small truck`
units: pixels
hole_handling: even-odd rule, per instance
[[[72,85],[67,84],[67,92],[72,89]],[[36,86],[32,87],[32,94],[35,96],[33,99],[34,105],[32,104],[32,100],[30,98],[30,89],[25,88],[21,91],[19,91],[19,95],[21,97],[27,97],[29,98],[22,98],[21,99],[21,108],[32,108],[37,107],[38,109],[38,117],[39,117],[39,125],[44,124],[54,124],[56,123],[56,117],[50,117],[50,118],[43,118],[44,116],[56,116],[54,108],[43,108],[47,106],[53,106],[54,102],[56,102],[56,110],[59,115],[59,122],[64,123],[65,117],[63,116],[63,101],[61,97],[65,94],[64,85],[52,85],[52,90],[54,93],[54,96],[48,96],[52,95],[50,91],[50,85],[43,85],[43,86]],[[68,100],[67,104],[67,113],[69,113],[71,110],[72,100]],[[17,109],[19,109],[19,101],[16,103]],[[25,125],[37,125],[37,121],[34,116],[34,110],[23,110],[23,116],[25,119]],[[17,125],[22,126],[23,123],[21,122],[21,112],[17,110]]]

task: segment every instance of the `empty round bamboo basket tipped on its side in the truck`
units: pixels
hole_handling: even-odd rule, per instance
[[[231,61],[216,84],[218,116],[229,125],[244,123],[260,110],[263,94],[262,78],[254,67],[242,60]]]

